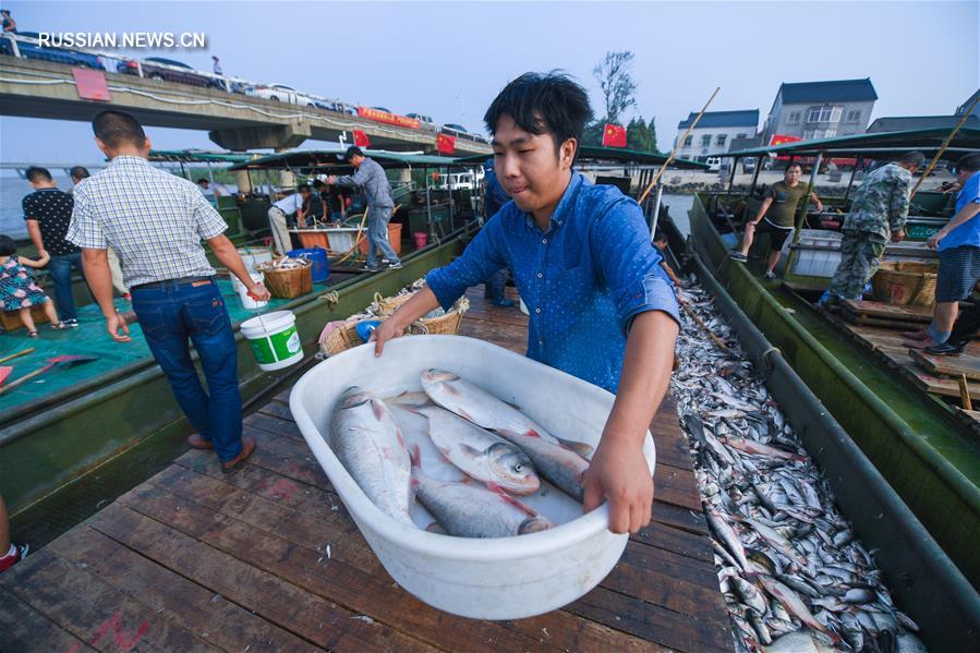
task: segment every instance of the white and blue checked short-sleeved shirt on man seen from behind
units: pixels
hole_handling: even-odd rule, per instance
[[[121,156],[82,180],[74,197],[66,239],[90,250],[111,246],[128,288],[215,275],[201,241],[228,225],[197,184]]]

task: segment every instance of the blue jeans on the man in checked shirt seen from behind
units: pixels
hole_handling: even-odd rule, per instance
[[[133,288],[133,311],[177,402],[222,461],[242,450],[242,396],[231,318],[214,279]],[[207,394],[191,362],[187,339],[201,356]]]

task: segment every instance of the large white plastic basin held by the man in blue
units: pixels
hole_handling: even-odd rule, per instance
[[[522,411],[549,432],[597,445],[614,397],[606,390],[483,340],[461,336],[411,336],[390,341],[375,358],[365,344],[312,368],[293,387],[289,406],[320,467],[388,573],[421,601],[481,619],[518,619],[556,609],[602,581],[619,560],[627,535],[609,532],[608,507],[588,515],[560,491],[522,497],[554,529],[491,540],[452,537],[423,530],[431,522],[416,505],[413,529],[382,512],[334,456],[330,414],[351,385],[382,397],[421,389],[424,370],[446,370]],[[411,439],[406,434],[407,439]],[[653,438],[643,454],[654,470]],[[423,451],[423,467],[436,456]],[[426,469],[427,473],[434,473]],[[438,472],[438,470],[436,470]],[[445,475],[445,470],[441,470]],[[542,496],[542,494],[544,496]]]

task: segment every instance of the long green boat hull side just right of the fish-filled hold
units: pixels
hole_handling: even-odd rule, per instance
[[[721,285],[978,587],[980,449],[972,434],[948,407],[870,355],[844,351],[843,337],[828,326],[818,330],[808,306],[787,310],[777,290],[728,258],[700,197],[689,216],[694,246]]]

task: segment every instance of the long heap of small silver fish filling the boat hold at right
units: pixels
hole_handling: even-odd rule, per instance
[[[689,279],[672,389],[739,651],[924,651],[735,334]]]

